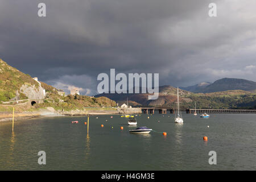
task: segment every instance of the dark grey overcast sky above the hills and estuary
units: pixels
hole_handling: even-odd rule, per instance
[[[208,15],[210,2],[217,17]],[[255,0],[0,0],[0,58],[88,95],[110,68],[159,73],[160,85],[256,81],[255,12]]]

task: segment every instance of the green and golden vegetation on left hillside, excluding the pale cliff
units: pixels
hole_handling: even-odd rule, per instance
[[[107,97],[89,97],[89,96],[60,96],[57,89],[51,85],[41,82],[41,86],[46,90],[46,98],[42,104],[35,104],[33,106],[18,106],[15,102],[10,102],[6,105],[0,106],[0,111],[11,111],[15,105],[16,111],[33,111],[43,109],[45,107],[53,107],[55,110],[84,110],[85,107],[113,107],[117,104]],[[28,86],[39,86],[30,75],[20,72],[18,69],[11,67],[5,61],[0,59],[0,101],[10,101],[16,96],[17,90],[25,84]],[[23,93],[19,93],[20,100],[25,100],[27,97]],[[22,103],[22,102],[19,102]]]

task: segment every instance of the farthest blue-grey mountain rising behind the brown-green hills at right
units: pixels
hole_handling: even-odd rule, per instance
[[[254,92],[256,90],[256,82],[238,78],[222,78],[213,83],[201,82],[197,85],[181,87],[181,89],[194,93],[223,92],[227,90]]]

